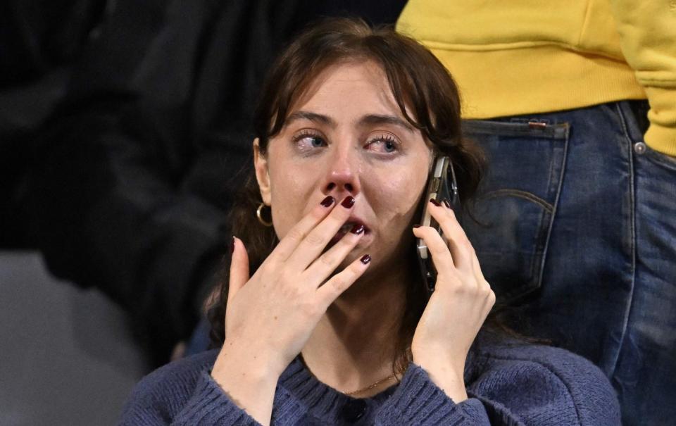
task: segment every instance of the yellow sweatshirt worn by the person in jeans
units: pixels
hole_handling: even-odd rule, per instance
[[[676,0],[410,0],[396,24],[446,65],[465,118],[648,99],[676,156]]]

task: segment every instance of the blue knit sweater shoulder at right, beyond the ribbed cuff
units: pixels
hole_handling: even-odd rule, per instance
[[[575,353],[508,342],[482,346],[477,358],[470,390],[495,401],[498,410],[518,412],[526,424],[539,424],[543,416],[556,418],[556,424],[620,424],[608,378]]]

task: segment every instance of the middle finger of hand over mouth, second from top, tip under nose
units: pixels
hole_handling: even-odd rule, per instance
[[[324,251],[340,228],[345,225],[354,206],[354,199],[347,196],[339,204],[298,244],[294,253],[287,259],[290,267],[305,270]]]

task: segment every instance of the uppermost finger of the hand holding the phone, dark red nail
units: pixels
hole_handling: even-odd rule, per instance
[[[441,204],[437,205],[431,201],[427,207],[432,218],[442,227],[444,237],[448,240],[449,251],[451,251],[451,256],[453,256],[453,264],[456,265],[458,270],[475,275],[472,265],[472,257],[475,256],[474,248],[460,223],[458,223],[456,213],[450,208]]]

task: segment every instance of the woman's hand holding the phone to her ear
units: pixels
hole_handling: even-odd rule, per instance
[[[488,313],[495,294],[484,279],[477,255],[456,215],[428,201],[430,213],[444,237],[432,227],[413,229],[422,238],[437,269],[437,284],[413,335],[413,362],[459,403],[467,399],[465,360]],[[446,240],[446,241],[444,241]]]

